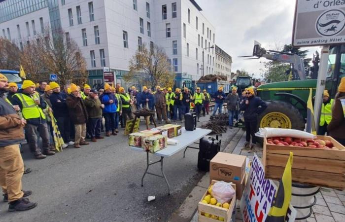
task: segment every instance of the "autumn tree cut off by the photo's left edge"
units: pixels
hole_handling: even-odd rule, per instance
[[[20,50],[10,40],[0,37],[0,69],[19,70]]]

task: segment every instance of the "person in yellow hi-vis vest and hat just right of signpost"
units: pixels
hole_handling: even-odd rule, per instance
[[[317,130],[317,135],[324,136],[326,133],[329,135],[327,131],[327,126],[332,120],[332,107],[333,107],[334,99],[331,99],[328,93],[328,90],[323,91],[323,101],[320,113],[320,124]]]

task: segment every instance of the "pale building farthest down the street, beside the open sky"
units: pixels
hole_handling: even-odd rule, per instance
[[[231,56],[221,49],[218,45],[215,45],[215,61],[214,61],[214,74],[225,75],[228,77],[228,81],[231,79]]]

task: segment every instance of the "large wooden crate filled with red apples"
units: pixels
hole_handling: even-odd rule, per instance
[[[268,144],[264,139],[263,164],[268,179],[281,179],[289,152],[293,152],[292,181],[300,184],[345,188],[345,147],[329,136],[317,136],[330,140],[340,150],[287,147]]]

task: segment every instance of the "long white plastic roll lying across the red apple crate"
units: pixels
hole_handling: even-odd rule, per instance
[[[316,136],[301,130],[294,129],[280,129],[280,128],[260,128],[259,132],[255,133],[257,137],[295,137],[301,139],[316,139]]]

